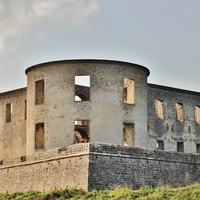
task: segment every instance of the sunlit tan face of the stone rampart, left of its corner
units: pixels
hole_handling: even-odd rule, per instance
[[[0,192],[88,188],[88,144],[37,152],[4,160],[0,165]]]

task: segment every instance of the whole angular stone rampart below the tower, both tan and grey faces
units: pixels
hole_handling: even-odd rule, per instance
[[[200,181],[200,155],[80,143],[0,162],[0,192],[181,186]]]

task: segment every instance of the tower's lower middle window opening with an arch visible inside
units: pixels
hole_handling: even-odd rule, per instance
[[[74,143],[90,142],[90,121],[76,120],[74,121]]]

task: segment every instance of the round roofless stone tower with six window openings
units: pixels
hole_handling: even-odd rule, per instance
[[[26,74],[27,154],[90,141],[147,146],[147,68],[66,60]]]

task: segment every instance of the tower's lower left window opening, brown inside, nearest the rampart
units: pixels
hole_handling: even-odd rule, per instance
[[[35,149],[44,148],[44,123],[35,124]]]

